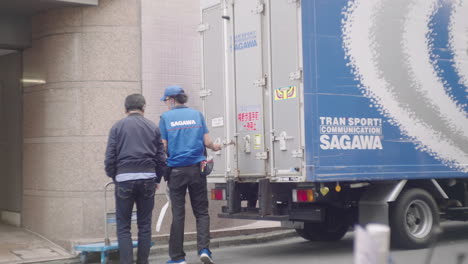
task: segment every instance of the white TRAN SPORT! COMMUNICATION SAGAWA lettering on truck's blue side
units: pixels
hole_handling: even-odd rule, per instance
[[[383,149],[381,136],[381,118],[320,117],[323,150]]]

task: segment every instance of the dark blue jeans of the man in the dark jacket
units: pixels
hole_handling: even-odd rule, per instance
[[[115,183],[115,207],[117,238],[119,241],[120,263],[133,263],[133,246],[130,228],[133,204],[137,209],[138,254],[137,263],[148,263],[151,247],[151,216],[154,207],[154,179],[134,180]]]

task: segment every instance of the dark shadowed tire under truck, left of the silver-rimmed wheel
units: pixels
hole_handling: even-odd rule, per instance
[[[349,229],[349,219],[341,210],[329,210],[322,223],[305,222],[304,229],[296,229],[299,236],[309,241],[338,241]]]

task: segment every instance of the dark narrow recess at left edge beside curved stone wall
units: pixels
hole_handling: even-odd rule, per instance
[[[21,211],[21,53],[0,56],[0,211]]]

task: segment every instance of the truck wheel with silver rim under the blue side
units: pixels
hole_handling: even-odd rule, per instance
[[[403,192],[390,206],[391,241],[395,247],[428,247],[436,236],[438,226],[437,204],[423,189]]]

